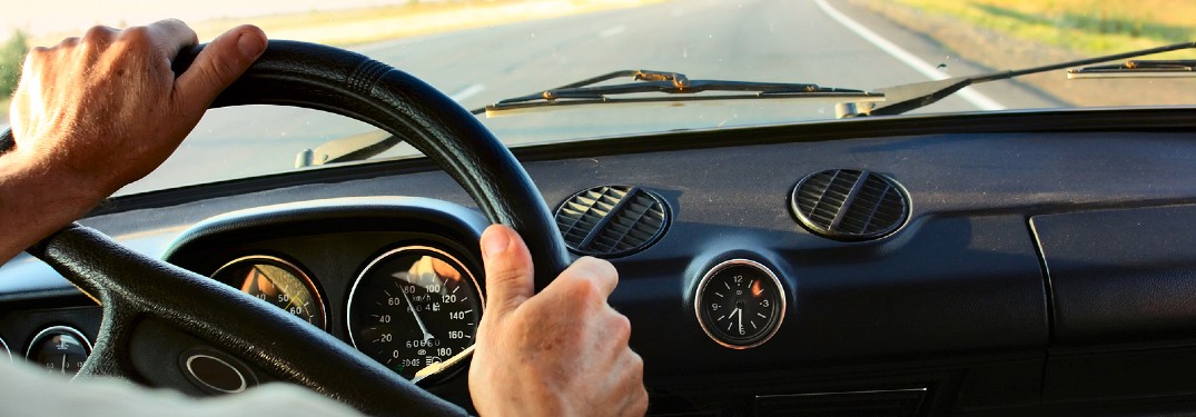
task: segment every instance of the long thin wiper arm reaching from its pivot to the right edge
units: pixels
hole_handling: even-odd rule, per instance
[[[1151,49],[1135,50],[1122,54],[1098,56],[1086,60],[1068,61],[1061,63],[1052,63],[1041,67],[1031,67],[1024,69],[1011,69],[1011,70],[999,70],[994,73],[969,75],[969,76],[954,76],[945,80],[938,81],[925,81],[905,84],[899,86],[892,86],[886,88],[879,88],[878,92],[885,94],[884,103],[841,103],[835,110],[840,118],[854,117],[854,116],[881,116],[881,115],[901,115],[903,112],[923,108],[930,105],[947,96],[954,94],[957,91],[963,90],[966,86],[988,81],[1005,80],[1014,76],[1021,76],[1027,74],[1043,73],[1048,70],[1063,69],[1068,67],[1086,66],[1092,63],[1102,63],[1116,60],[1125,60],[1143,55],[1166,53],[1179,49],[1191,49],[1196,48],[1196,42],[1176,43],[1166,47],[1158,47]]]

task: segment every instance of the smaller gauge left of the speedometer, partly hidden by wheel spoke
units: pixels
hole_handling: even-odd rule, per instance
[[[289,262],[268,256],[244,257],[221,266],[212,278],[236,286],[316,327],[328,329],[324,301],[316,283]]]

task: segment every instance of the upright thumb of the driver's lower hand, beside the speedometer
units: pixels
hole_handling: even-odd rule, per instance
[[[531,252],[514,229],[493,225],[482,232],[486,313],[502,318],[535,294]]]

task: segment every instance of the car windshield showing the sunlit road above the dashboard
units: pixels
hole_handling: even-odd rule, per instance
[[[1178,0],[66,0],[4,8],[5,92],[31,47],[93,24],[175,17],[191,24],[201,42],[252,23],[271,38],[356,50],[428,81],[466,109],[623,69],[871,92],[1196,39],[1196,4]],[[1143,59],[1190,60],[1196,53]],[[1189,105],[1194,87],[1192,78],[1068,80],[1056,70],[968,87],[914,112]],[[524,146],[834,119],[841,102],[608,103],[480,117],[508,146]],[[6,125],[8,103],[0,104]],[[161,168],[121,194],[293,171],[304,165],[295,162],[305,149],[372,130],[315,110],[209,111]],[[371,160],[413,154],[398,146]]]

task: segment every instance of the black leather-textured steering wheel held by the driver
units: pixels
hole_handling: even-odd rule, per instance
[[[176,72],[201,49],[184,50]],[[569,263],[561,233],[519,161],[465,109],[415,76],[337,48],[270,41],[212,108],[245,104],[330,111],[403,137],[460,183],[492,222],[523,235],[537,289]],[[99,337],[80,375],[136,378],[129,343],[139,325],[157,321],[370,415],[465,413],[280,308],[78,223],[29,252],[103,306]]]

